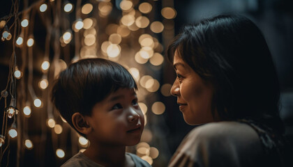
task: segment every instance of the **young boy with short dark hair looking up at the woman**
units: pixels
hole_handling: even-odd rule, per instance
[[[126,145],[136,145],[144,129],[137,104],[137,85],[118,63],[103,58],[82,59],[60,73],[52,102],[79,134],[89,139],[84,152],[66,166],[150,166]]]

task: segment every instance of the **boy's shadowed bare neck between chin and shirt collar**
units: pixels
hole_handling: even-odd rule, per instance
[[[96,145],[91,143],[83,153],[92,161],[102,166],[129,166],[125,154],[126,147],[112,145]]]

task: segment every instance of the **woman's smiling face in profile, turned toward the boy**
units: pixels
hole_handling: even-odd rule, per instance
[[[199,125],[213,122],[211,100],[213,87],[187,64],[175,51],[174,70],[176,80],[171,88],[171,94],[177,97],[177,104],[188,125]]]

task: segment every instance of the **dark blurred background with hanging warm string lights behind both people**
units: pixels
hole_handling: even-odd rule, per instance
[[[87,148],[52,106],[50,91],[67,65],[92,57],[121,63],[137,81],[146,125],[141,142],[127,151],[167,166],[194,126],[170,95],[175,75],[165,49],[183,24],[223,13],[246,15],[263,31],[292,141],[293,1],[6,0],[0,13],[0,166],[60,166]]]

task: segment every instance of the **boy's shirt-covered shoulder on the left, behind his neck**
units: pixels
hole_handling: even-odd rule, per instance
[[[85,156],[82,152],[78,152],[73,157],[68,159],[66,163],[64,163],[61,167],[103,167],[96,162],[91,161],[87,156]]]

